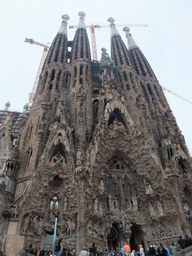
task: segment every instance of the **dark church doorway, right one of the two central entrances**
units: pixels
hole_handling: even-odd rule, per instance
[[[142,244],[144,247],[144,233],[141,228],[133,224],[131,227],[130,247],[131,250],[139,250],[139,245]]]

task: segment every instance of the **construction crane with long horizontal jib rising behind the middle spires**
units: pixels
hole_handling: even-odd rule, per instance
[[[147,25],[141,25],[141,24],[126,24],[126,25],[115,25],[116,27],[147,27]],[[69,28],[77,28],[78,26],[69,25]],[[96,37],[95,37],[95,29],[96,28],[109,28],[110,25],[87,25],[86,28],[90,28],[91,32],[91,45],[92,45],[92,56],[93,56],[93,62],[97,62],[97,47],[96,47]]]

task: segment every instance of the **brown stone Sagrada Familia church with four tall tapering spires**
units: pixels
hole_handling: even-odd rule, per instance
[[[111,58],[91,60],[79,13],[72,41],[63,21],[33,105],[1,111],[0,246],[52,250],[56,233],[79,252],[166,243],[192,234],[192,161],[144,54],[114,19]],[[107,40],[107,38],[105,38]]]

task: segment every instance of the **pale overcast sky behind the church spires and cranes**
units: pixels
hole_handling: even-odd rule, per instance
[[[160,84],[192,101],[192,1],[191,0],[3,0],[1,2],[0,109],[7,101],[10,110],[22,111],[32,91],[43,48],[25,43],[25,38],[52,42],[61,15],[69,25],[78,24],[78,12],[86,13],[85,23],[147,24],[130,27]],[[118,31],[126,42],[122,27]],[[69,40],[75,30],[68,30]],[[89,34],[89,31],[88,31]],[[90,34],[89,34],[90,35]],[[110,54],[110,29],[96,31],[97,50]],[[192,104],[165,93],[177,123],[192,152]]]

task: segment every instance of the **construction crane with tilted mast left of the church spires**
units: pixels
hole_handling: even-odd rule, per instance
[[[48,52],[48,49],[49,49],[49,46],[48,46],[49,43],[47,43],[47,45],[45,45],[45,44],[38,43],[38,42],[34,41],[33,39],[29,39],[29,38],[25,38],[25,42],[44,47],[43,54],[42,54],[42,57],[41,57],[41,61],[40,61],[40,64],[39,64],[39,68],[38,68],[38,71],[37,71],[37,75],[36,75],[36,78],[35,78],[35,82],[34,82],[34,85],[33,85],[33,89],[32,89],[32,92],[29,95],[29,102],[28,102],[27,107],[28,107],[28,109],[30,109],[31,106],[32,106],[32,103],[33,103],[33,99],[34,99],[36,90],[37,90],[39,75],[41,74],[41,70],[42,70],[45,58],[47,56],[47,52]]]

